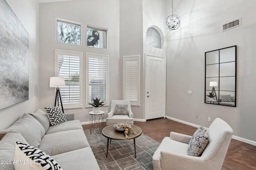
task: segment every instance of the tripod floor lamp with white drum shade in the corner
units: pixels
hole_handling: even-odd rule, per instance
[[[56,87],[54,106],[56,106],[57,100],[58,100],[58,106],[59,106],[59,98],[60,98],[62,112],[64,113],[64,109],[63,109],[63,105],[62,105],[62,98],[61,98],[60,88],[59,88],[60,86],[65,86],[64,77],[50,77],[50,87]]]

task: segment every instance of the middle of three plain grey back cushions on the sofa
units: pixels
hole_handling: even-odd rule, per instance
[[[28,144],[38,147],[45,130],[42,124],[32,115],[24,113],[20,119],[14,122],[7,130],[18,131],[26,139]]]

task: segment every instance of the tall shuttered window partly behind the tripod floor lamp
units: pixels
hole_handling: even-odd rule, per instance
[[[65,80],[60,87],[65,109],[82,107],[82,56],[82,52],[55,49],[55,74]]]

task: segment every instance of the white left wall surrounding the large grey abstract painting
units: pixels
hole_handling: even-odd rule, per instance
[[[36,0],[6,0],[29,33],[29,100],[0,111],[0,130],[34,112],[39,96],[39,6]],[[1,62],[1,61],[0,61]]]

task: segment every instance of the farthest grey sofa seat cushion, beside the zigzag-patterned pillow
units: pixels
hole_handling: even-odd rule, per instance
[[[79,120],[71,120],[71,121],[65,121],[62,123],[59,123],[55,126],[50,126],[46,134],[50,133],[56,133],[60,131],[69,131],[69,130],[74,130],[74,129],[82,129],[83,127],[80,123]]]

